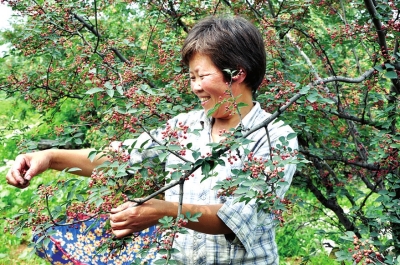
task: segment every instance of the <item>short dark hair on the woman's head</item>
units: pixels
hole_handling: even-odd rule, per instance
[[[188,65],[194,53],[210,56],[221,70],[247,73],[244,82],[254,92],[263,81],[266,69],[264,41],[260,31],[248,20],[239,17],[209,16],[189,31],[182,47],[183,63]],[[223,72],[230,80],[229,73]]]

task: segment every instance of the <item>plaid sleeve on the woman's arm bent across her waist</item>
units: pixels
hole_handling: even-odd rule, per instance
[[[278,132],[274,131],[271,133],[271,144],[274,146],[276,140],[280,136],[288,135],[293,132],[289,126],[279,127]],[[289,140],[289,147],[292,150],[298,149],[297,139],[293,138]],[[269,145],[265,141],[258,149],[255,154],[257,157],[268,157],[269,156]],[[283,181],[287,185],[278,186],[276,195],[283,198],[286,191],[288,190],[290,183],[292,182],[293,175],[296,170],[295,164],[287,164],[284,168]],[[258,211],[257,203],[255,200],[251,200],[247,204],[244,202],[235,202],[235,197],[227,198],[226,202],[222,205],[218,211],[218,217],[232,230],[236,238],[232,241],[237,242],[237,239],[244,246],[247,252],[250,252],[252,245],[255,243],[254,231],[259,226],[264,226],[266,229],[272,229],[274,226],[274,216],[270,212]]]

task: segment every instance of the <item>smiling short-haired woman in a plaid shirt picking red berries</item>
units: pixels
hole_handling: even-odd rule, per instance
[[[182,59],[189,67],[191,89],[203,110],[176,116],[167,127],[153,131],[153,139],[162,142],[165,130],[186,126],[198,133],[188,133],[179,138],[180,143],[192,143],[191,150],[206,155],[211,150],[208,143],[223,140],[221,132],[238,126],[250,129],[270,116],[252,97],[264,78],[266,56],[260,32],[247,20],[214,16],[203,19],[189,32],[182,48]],[[232,107],[232,98],[241,106],[239,111]],[[207,115],[209,113],[211,116]],[[268,132],[267,135],[262,129],[248,137],[252,142],[245,148],[251,150],[253,157],[268,159],[269,143],[274,146],[281,136],[293,131],[282,122],[275,122],[268,126]],[[158,155],[152,149],[156,142],[147,134],[142,134],[135,142],[136,146],[146,144],[143,152],[133,149],[132,163]],[[297,149],[296,139],[290,140],[288,147]],[[7,174],[7,181],[24,188],[33,176],[48,168],[79,167],[80,175],[89,176],[105,160],[90,162],[87,159],[89,152],[47,150],[20,155]],[[217,181],[235,178],[232,169],[243,168],[247,156],[243,149],[239,153],[237,160],[226,161],[225,166],[218,165],[213,170],[213,177],[203,180],[201,170],[197,170],[185,182],[182,212],[201,213],[201,216],[198,222],[187,223],[189,233],[175,239],[174,248],[179,253],[172,259],[179,264],[278,264],[273,215],[258,211],[254,201],[235,203],[234,197],[219,196],[218,191],[212,190]],[[185,156],[188,160],[191,157]],[[182,161],[169,155],[166,169],[177,163]],[[23,170],[27,170],[25,179],[21,176]],[[294,165],[285,166],[282,181],[290,184],[294,171]],[[283,197],[287,188],[277,189],[276,195]],[[175,187],[166,191],[165,200],[151,199],[138,207],[131,207],[133,203],[128,202],[112,209],[109,218],[113,233],[122,238],[157,225],[164,216],[176,217],[178,199],[179,190]]]

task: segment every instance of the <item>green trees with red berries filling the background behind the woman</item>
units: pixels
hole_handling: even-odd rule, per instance
[[[336,239],[338,260],[395,264],[399,3],[2,2],[27,20],[3,33],[13,48],[0,59],[0,88],[34,108],[22,117],[34,113],[41,122],[20,138],[20,151],[36,149],[41,138],[100,148],[198,107],[179,59],[186,32],[209,14],[247,17],[267,51],[257,99],[271,113],[290,104],[277,113],[309,161],[298,167],[294,186],[305,193],[291,197],[293,207],[313,194],[330,224],[319,232]],[[12,118],[5,124],[2,137],[25,126]],[[370,240],[365,249],[359,238]]]

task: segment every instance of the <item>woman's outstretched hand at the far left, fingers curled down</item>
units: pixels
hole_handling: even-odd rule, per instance
[[[50,167],[51,152],[41,151],[19,155],[6,175],[7,183],[24,189],[30,180]]]

